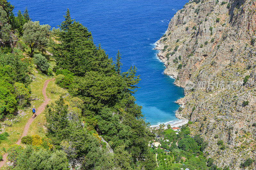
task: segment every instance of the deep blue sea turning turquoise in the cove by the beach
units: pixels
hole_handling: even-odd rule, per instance
[[[155,42],[167,30],[173,15],[188,0],[11,0],[14,14],[27,6],[32,21],[57,28],[69,8],[72,19],[92,32],[93,42],[115,59],[118,50],[122,56],[122,70],[137,67],[141,81],[134,95],[142,106],[145,121],[151,125],[179,121],[174,103],[183,97],[183,89],[164,75],[164,64],[156,57]]]

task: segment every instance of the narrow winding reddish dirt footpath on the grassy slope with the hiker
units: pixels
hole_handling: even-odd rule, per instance
[[[36,116],[38,116],[40,113],[42,113],[44,111],[44,107],[50,102],[50,99],[46,96],[46,87],[47,87],[49,81],[52,81],[52,80],[54,80],[54,79],[49,79],[49,80],[44,81],[44,87],[42,89],[42,93],[44,95],[44,103],[42,103],[41,106],[39,106],[39,108],[36,109]],[[27,136],[29,126],[33,122],[33,120],[34,119],[32,118],[32,114],[31,114],[31,117],[28,119],[28,122],[24,127],[22,135],[21,135],[20,139],[18,140],[18,142],[16,142],[16,144],[20,145],[21,138],[24,136]],[[3,161],[0,162],[0,167],[2,167],[5,164],[6,160],[7,160],[7,153],[5,153],[3,155]]]

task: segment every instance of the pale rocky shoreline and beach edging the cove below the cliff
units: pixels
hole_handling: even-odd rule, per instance
[[[157,55],[156,55],[157,59],[158,59],[160,62],[164,63],[163,59],[158,55],[159,52],[160,52],[160,49],[157,48],[157,47],[159,47],[159,45],[160,45],[160,43],[158,43],[158,41],[159,41],[159,40],[157,40],[157,41],[154,43],[155,48],[153,48],[153,49],[158,51],[158,53],[157,53]],[[165,65],[165,64],[164,64],[164,65]],[[176,80],[176,79],[175,79],[175,75],[169,75],[169,74],[167,74],[167,73],[164,73],[164,74],[165,74],[165,75],[168,75],[171,79]],[[180,86],[178,86],[178,85],[175,84],[175,83],[173,83],[173,84],[174,84],[175,86],[177,86],[177,87],[180,87]],[[184,95],[184,96],[185,96],[185,95]],[[181,99],[181,98],[180,98],[180,99]],[[182,107],[182,106],[183,106],[183,103],[178,102],[180,99],[178,99],[177,101],[175,101],[175,103],[178,103],[178,104]],[[176,110],[175,117],[177,117],[178,120],[171,120],[171,121],[169,121],[169,122],[164,123],[164,124],[165,124],[164,129],[167,129],[167,125],[168,125],[168,124],[170,124],[171,127],[180,127],[180,126],[182,126],[182,125],[184,125],[184,124],[188,124],[188,119],[186,119],[186,118],[182,117],[181,115],[179,115],[179,114],[178,114],[178,110]],[[181,120],[181,121],[179,121],[179,120]],[[174,122],[173,124],[171,124],[172,121],[176,121],[176,122]],[[159,129],[159,128],[160,128],[159,125],[160,125],[160,124],[152,125],[152,126],[150,126],[150,128]]]

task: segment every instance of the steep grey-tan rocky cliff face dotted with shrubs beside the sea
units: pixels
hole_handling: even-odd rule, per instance
[[[204,152],[219,167],[256,157],[255,9],[256,0],[189,1],[157,41],[164,73],[185,88],[176,115],[194,122],[192,135],[209,142]]]

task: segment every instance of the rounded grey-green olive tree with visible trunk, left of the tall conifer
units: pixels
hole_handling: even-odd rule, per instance
[[[31,49],[29,56],[32,56],[35,49],[42,49],[47,45],[50,28],[50,25],[40,25],[39,21],[24,24],[22,39]]]

